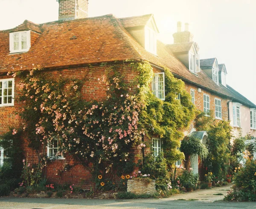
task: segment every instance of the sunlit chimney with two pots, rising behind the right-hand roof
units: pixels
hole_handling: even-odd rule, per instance
[[[189,23],[185,23],[185,31],[181,31],[181,22],[177,22],[177,32],[173,35],[174,43],[193,41],[193,35],[189,32]]]

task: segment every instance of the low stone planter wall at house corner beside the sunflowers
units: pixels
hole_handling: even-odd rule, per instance
[[[143,181],[128,180],[127,181],[127,192],[134,194],[154,194],[156,192],[156,181],[152,180],[149,184]]]

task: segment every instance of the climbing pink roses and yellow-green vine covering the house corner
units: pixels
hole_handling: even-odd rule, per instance
[[[143,135],[157,134],[164,140],[169,164],[182,158],[177,146],[183,128],[194,117],[184,83],[165,68],[166,99],[162,101],[151,93],[151,65],[130,65],[139,73],[133,82],[125,82],[117,65],[108,68],[101,78],[106,88],[101,101],[82,99],[83,78],[53,77],[39,67],[29,73],[9,72],[20,78],[20,116],[29,146],[46,153],[47,144],[58,140],[58,155],[73,155],[84,165],[91,162],[96,171],[128,173],[133,169],[132,149],[145,147]],[[178,93],[180,100],[175,99]]]

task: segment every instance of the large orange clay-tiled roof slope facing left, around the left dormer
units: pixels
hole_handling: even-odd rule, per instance
[[[42,34],[28,52],[9,54],[9,31],[0,31],[0,71],[60,68],[141,57],[113,15],[41,24]],[[13,69],[14,68],[14,69]]]

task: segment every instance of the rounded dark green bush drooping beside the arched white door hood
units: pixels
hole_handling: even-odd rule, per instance
[[[181,141],[180,151],[184,153],[186,160],[186,169],[188,169],[189,157],[192,155],[200,155],[201,159],[206,159],[208,155],[207,147],[199,138],[194,136],[186,136]]]

